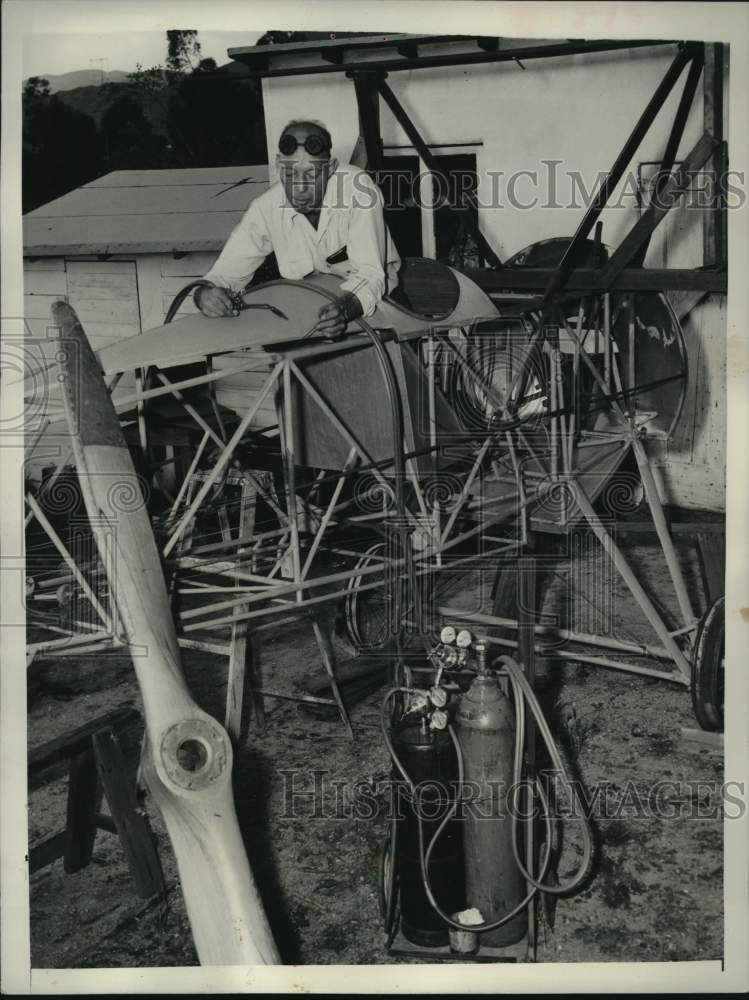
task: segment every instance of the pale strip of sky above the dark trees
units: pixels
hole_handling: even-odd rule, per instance
[[[193,27],[174,24],[169,27]],[[254,45],[259,31],[201,31],[198,40],[201,55],[216,60],[218,65],[229,61],[228,48]],[[151,31],[94,33],[55,33],[26,35],[23,46],[23,77],[48,76],[69,73],[78,69],[100,69],[100,63],[91,60],[106,59],[104,69],[124,70],[129,73],[136,63],[144,67],[156,66],[166,59],[166,29]]]

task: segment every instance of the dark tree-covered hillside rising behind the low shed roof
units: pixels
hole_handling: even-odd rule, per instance
[[[113,170],[266,162],[262,92],[246,74],[24,95],[24,212]]]

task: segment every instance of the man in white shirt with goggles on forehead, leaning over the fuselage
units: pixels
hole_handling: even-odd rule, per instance
[[[284,278],[318,271],[345,279],[336,302],[318,313],[311,333],[320,336],[340,336],[394,287],[400,260],[383,219],[382,195],[364,171],[339,164],[331,147],[319,122],[286,125],[276,155],[280,183],[250,203],[206,274],[216,287],[197,290],[203,315],[235,314],[236,293],[271,252]]]

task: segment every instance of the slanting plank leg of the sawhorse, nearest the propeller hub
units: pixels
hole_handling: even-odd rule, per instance
[[[145,814],[138,808],[117,736],[111,729],[94,735],[94,752],[135,890],[142,899],[148,899],[163,892],[161,864]]]

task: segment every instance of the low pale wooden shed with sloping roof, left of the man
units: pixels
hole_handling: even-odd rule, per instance
[[[267,187],[266,166],[117,170],[25,215],[32,365],[55,350],[48,331],[60,297],[97,350],[160,326],[177,292],[208,271],[248,203]],[[177,315],[191,312],[188,296]],[[134,381],[123,377],[115,399],[132,392]],[[275,421],[272,402],[258,420]],[[37,464],[32,456],[32,479],[41,473]]]

